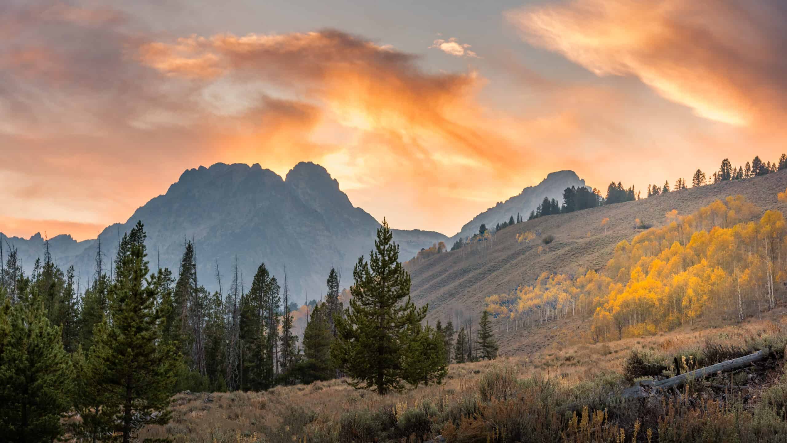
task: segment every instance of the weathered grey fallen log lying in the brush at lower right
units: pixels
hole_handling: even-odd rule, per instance
[[[757,351],[753,354],[748,356],[738,357],[737,359],[726,360],[722,363],[716,363],[715,365],[707,366],[707,367],[700,367],[700,369],[691,370],[686,372],[685,374],[676,375],[671,378],[665,378],[664,380],[652,381],[652,380],[642,380],[641,382],[636,382],[634,386],[630,388],[623,389],[623,393],[621,397],[623,400],[634,400],[637,398],[645,398],[648,396],[652,391],[656,389],[672,389],[682,386],[685,382],[694,381],[694,380],[702,380],[706,377],[709,377],[713,374],[719,374],[719,372],[730,372],[733,370],[741,369],[743,367],[751,366],[754,363],[762,361],[763,359],[767,359],[768,351],[762,350]],[[647,388],[647,389],[645,389]],[[742,386],[736,386],[736,388],[742,388]],[[562,411],[577,411],[579,408],[582,408],[584,404],[582,403],[571,403],[563,405],[560,408]]]

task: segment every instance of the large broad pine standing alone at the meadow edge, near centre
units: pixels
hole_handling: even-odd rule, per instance
[[[399,247],[385,219],[375,250],[368,262],[360,257],[353,270],[353,297],[344,318],[336,318],[331,357],[353,378],[351,385],[382,395],[403,389],[408,360],[424,358],[405,349],[412,340],[408,332],[427,315],[427,306],[416,308],[410,300],[410,276],[398,261]]]

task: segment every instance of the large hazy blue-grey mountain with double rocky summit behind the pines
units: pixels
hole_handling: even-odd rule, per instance
[[[323,166],[301,162],[282,179],[259,164],[216,163],[188,169],[164,195],[137,209],[125,223],[110,225],[96,240],[77,242],[67,235],[50,239],[53,259],[64,270],[73,264],[87,285],[99,241],[109,265],[120,236],[138,220],[145,224],[151,268],[167,266],[177,273],[184,242],[194,240],[198,279],[206,288],[219,289],[218,266],[226,291],[237,258],[246,289],[260,263],[282,285],[286,266],[290,294],[297,301],[307,295],[320,298],[331,267],[342,272],[347,285],[358,257],[374,248],[379,227],[370,214],[353,207]],[[19,249],[28,273],[43,256],[40,234],[6,240]],[[405,259],[448,239],[441,233],[396,229],[394,240]]]

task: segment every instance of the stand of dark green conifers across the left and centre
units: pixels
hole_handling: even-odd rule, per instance
[[[327,295],[311,307],[300,344],[286,273],[282,285],[260,264],[246,289],[236,265],[228,289],[217,273],[220,289],[210,293],[198,280],[192,242],[177,274],[150,269],[141,222],[120,240],[112,263],[99,245],[83,293],[73,266],[64,273],[53,262],[48,242],[30,275],[16,248],[5,246],[4,441],[53,441],[67,431],[73,441],[127,443],[142,427],[167,423],[169,398],[183,390],[262,390],[346,377],[384,394],[440,382],[450,361],[446,343],[453,346],[454,332],[422,325],[427,306],[410,301],[410,277],[386,221],[375,251],[353,270],[349,296],[340,297],[336,271],[328,274]],[[493,344],[487,317],[486,332],[478,333],[483,349]],[[65,420],[67,414],[77,418]]]

